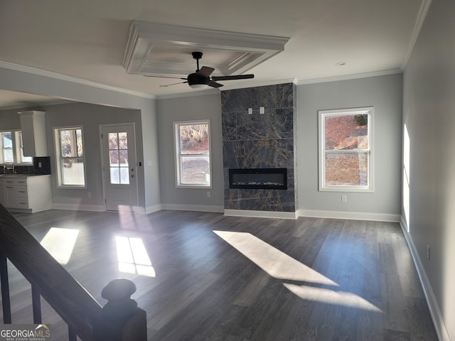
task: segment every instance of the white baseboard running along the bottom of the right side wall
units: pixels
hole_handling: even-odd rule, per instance
[[[412,260],[414,261],[414,265],[417,269],[417,274],[419,274],[420,283],[422,284],[422,288],[424,290],[429,313],[432,315],[434,329],[436,329],[438,339],[440,341],[450,341],[449,332],[447,331],[446,324],[442,318],[441,308],[439,308],[436,296],[434,296],[432,285],[429,282],[427,273],[425,272],[422,261],[417,253],[417,249],[412,241],[412,237],[410,233],[407,232],[407,224],[403,217],[401,217],[400,225],[403,230],[403,234],[405,234],[407,246],[411,251]]]

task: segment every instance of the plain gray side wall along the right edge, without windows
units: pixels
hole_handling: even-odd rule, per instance
[[[403,123],[410,136],[407,225],[417,264],[429,284],[441,340],[455,340],[453,13],[454,1],[432,1],[405,69],[403,101]],[[427,245],[431,247],[430,260]]]

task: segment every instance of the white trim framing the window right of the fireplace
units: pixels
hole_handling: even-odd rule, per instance
[[[319,110],[318,111],[318,124],[319,124],[319,139],[318,139],[318,148],[319,148],[319,191],[321,192],[359,192],[359,193],[373,193],[374,192],[374,167],[373,167],[373,118],[374,118],[374,107],[360,107],[360,108],[351,108],[351,109],[334,109],[334,110]],[[333,186],[326,185],[326,165],[325,165],[325,130],[323,126],[323,117],[326,116],[336,116],[336,115],[361,115],[368,114],[368,150],[362,149],[361,151],[368,152],[368,185],[366,186]],[[339,153],[346,153],[355,151],[336,151]]]

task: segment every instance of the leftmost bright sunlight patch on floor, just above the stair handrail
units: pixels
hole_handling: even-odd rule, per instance
[[[73,254],[78,234],[78,229],[51,227],[40,244],[58,263],[65,265]]]

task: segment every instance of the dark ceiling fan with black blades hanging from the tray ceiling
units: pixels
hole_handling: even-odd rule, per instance
[[[168,85],[160,85],[160,87],[168,87],[171,85],[188,83],[193,89],[203,89],[205,87],[223,87],[223,84],[217,83],[218,80],[246,80],[248,78],[254,78],[255,75],[235,75],[235,76],[212,76],[215,69],[213,67],[203,66],[199,69],[199,60],[202,58],[202,52],[191,53],[193,58],[196,59],[197,70],[196,72],[190,73],[188,77],[166,77],[166,76],[153,76],[145,75],[146,77],[159,77],[159,78],[174,78],[178,80],[184,80],[185,82],[178,82]]]

